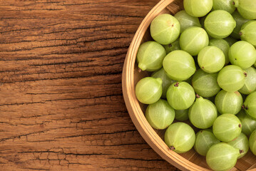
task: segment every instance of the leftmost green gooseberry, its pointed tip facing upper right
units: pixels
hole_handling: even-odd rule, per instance
[[[162,95],[162,82],[161,78],[142,78],[135,86],[136,97],[144,104],[157,102]]]

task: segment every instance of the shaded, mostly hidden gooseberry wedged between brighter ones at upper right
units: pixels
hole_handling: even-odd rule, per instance
[[[238,11],[233,12],[232,17],[235,19],[236,26],[232,31],[232,33],[230,34],[230,36],[236,39],[240,39],[240,31],[241,31],[242,24],[245,24],[247,21],[250,21],[250,20],[243,18]]]

